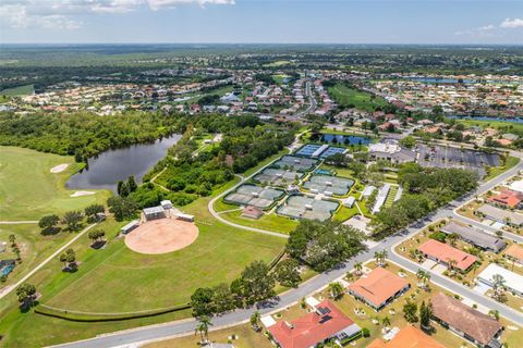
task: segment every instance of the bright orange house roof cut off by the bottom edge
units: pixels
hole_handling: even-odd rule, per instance
[[[376,338],[367,348],[445,348],[445,346],[419,328],[405,326],[391,340],[385,343]]]

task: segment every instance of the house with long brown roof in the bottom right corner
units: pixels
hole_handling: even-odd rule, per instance
[[[478,347],[500,347],[501,324],[494,318],[441,293],[433,296],[433,318]]]

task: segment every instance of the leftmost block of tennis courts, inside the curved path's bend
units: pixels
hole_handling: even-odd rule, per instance
[[[255,185],[241,185],[234,192],[227,195],[223,201],[239,206],[254,206],[267,209],[283,197],[285,192],[277,188],[264,188]]]

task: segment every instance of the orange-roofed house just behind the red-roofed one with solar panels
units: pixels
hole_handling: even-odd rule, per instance
[[[379,311],[410,287],[405,279],[377,268],[349,285],[349,294]]]

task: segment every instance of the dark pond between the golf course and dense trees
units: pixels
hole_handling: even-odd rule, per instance
[[[150,144],[133,145],[126,148],[105,151],[88,160],[88,169],[71,176],[65,184],[70,189],[117,190],[119,181],[134,175],[137,183],[147,171],[158,163],[167,150],[180,140],[173,135]]]

